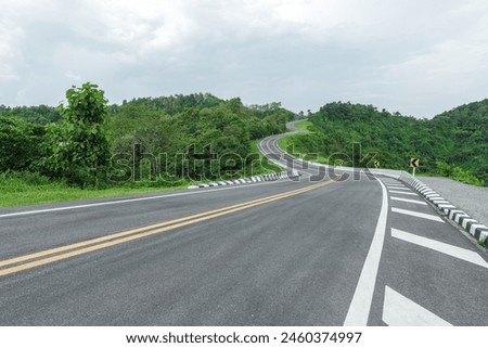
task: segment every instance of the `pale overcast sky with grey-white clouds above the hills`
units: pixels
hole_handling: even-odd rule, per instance
[[[486,0],[0,0],[0,104],[210,92],[433,117],[488,98]]]

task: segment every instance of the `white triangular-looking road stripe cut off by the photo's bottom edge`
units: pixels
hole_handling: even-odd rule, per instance
[[[385,287],[383,321],[389,326],[452,326],[388,286]]]

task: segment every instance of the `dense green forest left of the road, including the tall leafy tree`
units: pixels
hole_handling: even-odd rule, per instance
[[[284,132],[295,117],[280,103],[245,106],[208,93],[108,105],[91,83],[66,99],[56,108],[0,106],[0,172],[80,188],[257,175],[277,168],[261,163],[256,140]]]

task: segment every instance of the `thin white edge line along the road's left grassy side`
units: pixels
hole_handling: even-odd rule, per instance
[[[105,206],[105,205],[116,205],[116,204],[125,204],[125,203],[152,201],[152,199],[164,199],[164,198],[167,198],[167,197],[178,197],[178,196],[187,196],[187,195],[194,195],[194,194],[205,194],[205,193],[211,193],[211,192],[217,192],[217,191],[228,191],[228,190],[256,188],[256,186],[259,186],[259,185],[268,185],[268,184],[273,184],[273,183],[277,183],[277,182],[278,181],[268,181],[268,182],[262,182],[262,183],[256,183],[256,184],[253,184],[253,185],[242,185],[242,186],[213,189],[213,190],[205,190],[205,191],[181,192],[181,193],[171,193],[171,194],[150,196],[150,197],[140,197],[140,198],[129,198],[129,199],[120,199],[120,201],[108,201],[108,202],[100,202],[100,203],[90,203],[90,204],[81,204],[81,205],[59,207],[59,208],[49,208],[49,209],[17,211],[17,212],[10,212],[10,214],[0,215],[0,218],[17,217],[17,216],[43,214],[43,212],[53,212],[53,211],[63,211],[63,210],[74,210],[74,209],[82,209],[82,208],[91,208],[91,207],[99,207],[99,206]]]

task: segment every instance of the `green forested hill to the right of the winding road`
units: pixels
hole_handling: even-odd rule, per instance
[[[309,117],[322,155],[377,153],[382,168],[408,170],[421,158],[421,172],[474,175],[488,184],[488,100],[455,107],[431,120],[378,111],[371,105],[330,103]],[[462,178],[459,178],[462,179]]]

